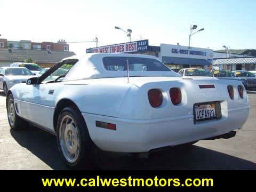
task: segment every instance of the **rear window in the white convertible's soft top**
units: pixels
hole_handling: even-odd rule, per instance
[[[171,71],[162,62],[149,58],[105,57],[103,65],[110,71],[124,71],[127,70],[127,61],[131,71]]]

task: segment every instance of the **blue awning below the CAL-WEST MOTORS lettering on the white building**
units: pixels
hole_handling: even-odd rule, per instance
[[[172,65],[211,65],[206,59],[179,58],[179,57],[163,57],[163,63]]]

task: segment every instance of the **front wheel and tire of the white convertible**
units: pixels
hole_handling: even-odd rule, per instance
[[[11,102],[13,103],[12,107],[14,109],[11,108]],[[11,130],[15,130],[15,131],[20,131],[20,130],[24,130],[27,129],[29,126],[29,123],[27,121],[25,121],[24,119],[20,118],[15,110],[14,107],[14,100],[13,100],[13,96],[12,94],[10,94],[7,98],[6,101],[6,109],[7,109],[7,119],[9,122],[9,125],[11,127]],[[12,112],[11,112],[12,111]],[[14,117],[14,118],[13,118]],[[13,119],[13,120],[12,120]]]

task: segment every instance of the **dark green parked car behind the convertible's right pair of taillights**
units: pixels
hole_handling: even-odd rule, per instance
[[[232,73],[230,70],[212,70],[210,72],[211,76],[218,78],[218,79],[230,79],[230,80],[237,80],[241,81],[244,87],[247,87],[247,81],[245,78],[241,77],[238,78]]]

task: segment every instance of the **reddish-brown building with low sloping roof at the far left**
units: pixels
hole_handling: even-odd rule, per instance
[[[67,42],[61,39],[53,42],[9,41],[0,38],[0,67],[31,58],[41,67],[51,67],[63,58],[75,55],[69,51]]]

